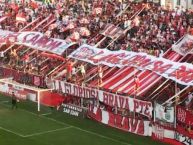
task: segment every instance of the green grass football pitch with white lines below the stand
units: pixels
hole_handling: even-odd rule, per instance
[[[12,110],[10,98],[0,96],[0,145],[164,145],[44,106],[37,114],[32,102],[18,106]]]

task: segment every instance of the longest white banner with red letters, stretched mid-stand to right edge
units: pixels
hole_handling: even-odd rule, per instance
[[[193,86],[193,65],[190,63],[173,62],[165,58],[147,55],[146,53],[98,49],[87,44],[80,46],[69,57],[86,61],[93,65],[104,64],[109,67],[120,68],[133,66],[141,70],[147,69],[182,85]]]

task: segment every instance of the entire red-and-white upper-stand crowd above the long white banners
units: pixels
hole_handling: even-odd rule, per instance
[[[126,6],[128,7],[124,10]],[[6,17],[0,23],[2,29],[20,31],[36,18],[45,19],[52,14],[56,22],[44,29],[40,26],[37,31],[48,37],[70,39],[69,41],[77,41],[79,44],[96,44],[100,40],[97,37],[98,32],[102,31],[107,23],[111,23],[125,31],[119,38],[112,40],[113,43],[108,45],[109,49],[142,51],[156,56],[165,52],[185,33],[193,33],[191,11],[184,8],[170,10],[149,3],[135,15],[140,8],[143,6],[135,2],[120,3],[118,0],[106,3],[65,1],[50,5],[35,2],[12,3],[0,7],[1,15]],[[130,29],[127,29],[128,27]],[[99,46],[105,47],[108,42],[103,41]]]

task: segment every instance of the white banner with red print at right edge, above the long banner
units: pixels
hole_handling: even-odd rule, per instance
[[[172,46],[172,49],[183,56],[193,53],[193,36],[185,35],[179,43]]]

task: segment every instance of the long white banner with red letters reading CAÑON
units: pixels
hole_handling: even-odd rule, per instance
[[[2,35],[0,35],[1,37]],[[10,33],[7,37],[0,38],[1,42],[6,42],[9,40],[15,44],[25,45],[33,49],[38,49],[41,51],[47,51],[62,55],[64,51],[75,44],[74,42],[66,42],[61,39],[48,38],[40,32],[16,32]]]

